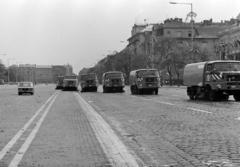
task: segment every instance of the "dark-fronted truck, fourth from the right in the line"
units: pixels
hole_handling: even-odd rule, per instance
[[[84,74],[80,78],[82,92],[85,91],[94,91],[97,92],[98,89],[98,78],[97,74]]]

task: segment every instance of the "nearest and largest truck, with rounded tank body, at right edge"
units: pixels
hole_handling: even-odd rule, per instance
[[[199,96],[211,101],[228,100],[233,95],[240,101],[240,61],[216,60],[187,64],[183,71],[183,85],[191,100]]]

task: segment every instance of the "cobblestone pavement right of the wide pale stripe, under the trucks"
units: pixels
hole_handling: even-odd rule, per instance
[[[240,166],[239,103],[159,95],[81,93],[149,166]]]

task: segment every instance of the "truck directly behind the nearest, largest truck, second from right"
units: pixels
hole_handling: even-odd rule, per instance
[[[155,93],[161,87],[157,69],[138,69],[130,72],[129,85],[132,94]]]

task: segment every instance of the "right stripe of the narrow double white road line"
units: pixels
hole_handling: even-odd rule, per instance
[[[56,100],[57,96],[59,94],[59,91],[56,93],[56,95],[53,97],[52,101],[50,102],[50,104],[48,105],[48,107],[46,108],[46,110],[44,111],[43,115],[41,116],[41,118],[39,119],[39,121],[37,122],[36,126],[34,127],[34,129],[32,130],[32,132],[30,133],[30,135],[27,137],[26,141],[23,143],[22,147],[18,150],[17,154],[14,156],[13,160],[11,161],[10,165],[8,167],[17,167],[18,164],[20,163],[20,161],[22,160],[22,157],[24,156],[24,154],[26,153],[28,147],[30,146],[30,144],[32,143],[33,139],[35,138],[39,128],[41,127],[44,119],[46,118],[50,108],[53,105],[53,102]]]

